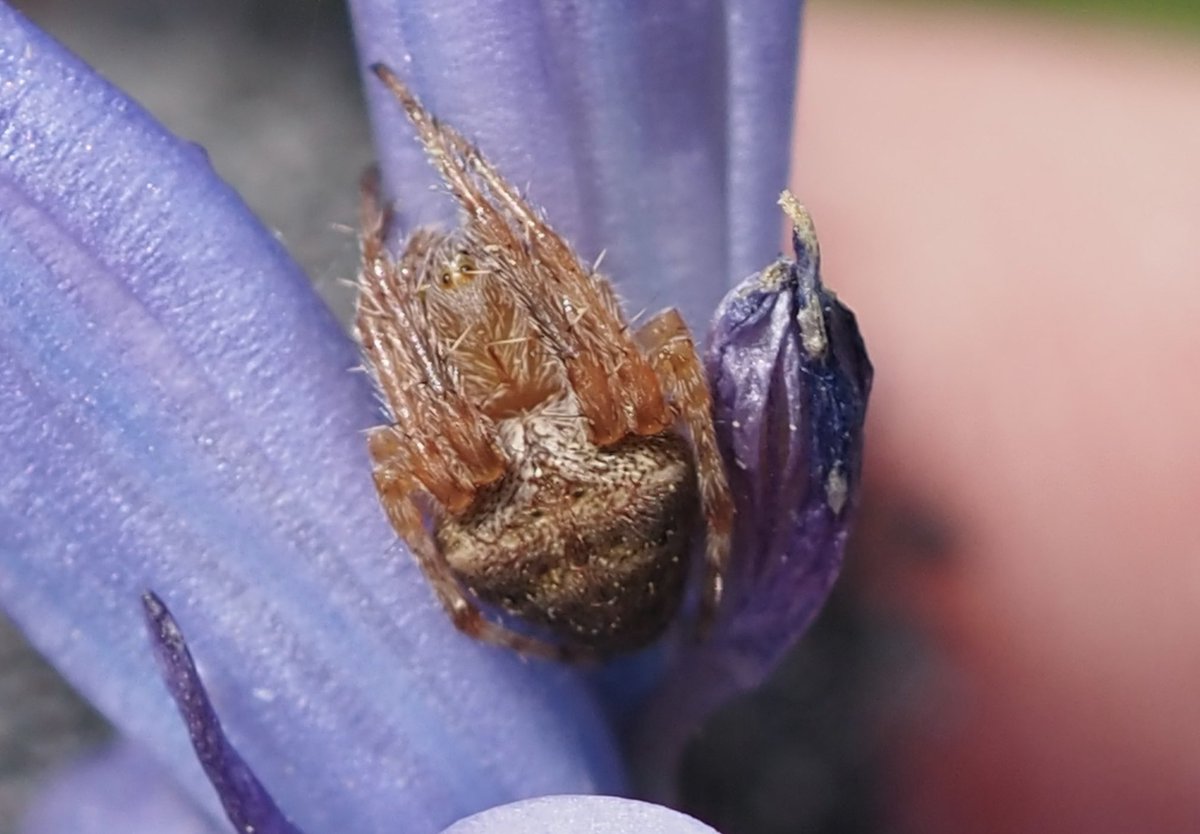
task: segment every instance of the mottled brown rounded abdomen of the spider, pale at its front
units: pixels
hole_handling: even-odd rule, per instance
[[[601,654],[656,637],[679,607],[698,522],[686,440],[667,431],[599,449],[557,404],[503,421],[500,439],[509,473],[437,523],[462,583]]]

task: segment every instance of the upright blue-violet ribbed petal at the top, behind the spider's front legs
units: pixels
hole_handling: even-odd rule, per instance
[[[352,0],[389,192],[409,227],[454,216],[401,108],[392,66],[468,137],[632,312],[702,330],[776,251],[791,149],[799,4]],[[416,184],[422,184],[418,186]]]

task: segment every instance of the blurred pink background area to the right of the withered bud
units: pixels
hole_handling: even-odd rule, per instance
[[[876,364],[850,581],[924,655],[886,828],[1200,832],[1200,35],[811,4],[793,186]]]

